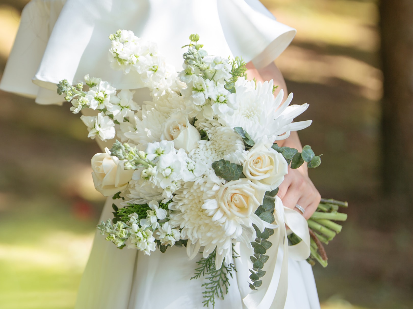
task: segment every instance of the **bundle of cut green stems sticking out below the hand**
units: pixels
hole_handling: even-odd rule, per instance
[[[311,236],[311,255],[307,259],[311,265],[319,262],[323,267],[327,267],[328,257],[324,250],[324,244],[328,244],[336,234],[341,232],[342,226],[333,221],[346,221],[347,214],[339,213],[339,207],[348,207],[347,202],[336,201],[335,199],[321,199],[317,210],[311,218],[307,220]],[[296,234],[290,234],[288,240],[291,245],[301,241]]]

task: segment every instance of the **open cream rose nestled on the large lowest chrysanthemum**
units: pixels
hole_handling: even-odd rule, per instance
[[[249,218],[262,205],[265,191],[245,178],[231,180],[218,190],[216,201],[226,217]]]

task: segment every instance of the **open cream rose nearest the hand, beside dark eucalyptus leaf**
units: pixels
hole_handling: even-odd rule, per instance
[[[242,172],[253,183],[271,191],[284,180],[288,164],[280,153],[259,143],[249,150]]]

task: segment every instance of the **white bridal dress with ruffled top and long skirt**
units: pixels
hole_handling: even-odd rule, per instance
[[[156,42],[176,70],[182,66],[180,47],[191,33],[200,35],[209,54],[242,56],[256,68],[271,63],[295,35],[259,0],[32,0],[22,12],[0,89],[35,98],[39,104],[61,104],[57,82],[67,79],[75,84],[86,74],[102,77],[116,89],[140,88],[132,74],[109,67],[108,35],[119,28]],[[138,89],[134,99],[139,103],[146,96],[146,89]],[[112,202],[107,200],[102,220],[112,218]],[[175,247],[150,256],[119,250],[96,233],[76,309],[202,308],[202,280],[190,280],[200,257],[188,261],[185,250]],[[235,274],[216,309],[247,308],[242,302],[249,293],[245,271]],[[254,309],[276,307],[267,303]],[[288,260],[284,308],[320,308],[313,273],[305,261]]]

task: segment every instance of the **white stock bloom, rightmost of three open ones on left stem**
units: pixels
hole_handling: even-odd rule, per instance
[[[134,111],[140,109],[140,106],[132,100],[134,93],[135,91],[123,89],[110,98],[112,106],[108,106],[107,110],[118,122],[124,122],[125,117],[133,117]]]

